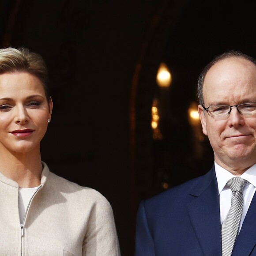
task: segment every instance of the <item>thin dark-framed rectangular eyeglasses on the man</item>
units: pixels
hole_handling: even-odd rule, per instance
[[[207,111],[208,115],[211,117],[226,117],[230,114],[233,107],[237,108],[237,111],[242,115],[253,115],[256,114],[256,103],[244,103],[239,105],[218,105],[218,106],[209,106],[206,108],[203,106],[203,109]]]

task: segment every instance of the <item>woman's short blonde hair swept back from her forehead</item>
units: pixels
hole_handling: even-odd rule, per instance
[[[13,72],[27,72],[36,76],[44,87],[47,102],[50,102],[51,97],[47,87],[48,71],[41,55],[29,52],[27,48],[0,49],[0,74]]]

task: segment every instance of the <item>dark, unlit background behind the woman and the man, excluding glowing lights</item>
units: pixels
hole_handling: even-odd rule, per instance
[[[188,107],[215,55],[256,57],[255,10],[254,0],[0,0],[2,47],[28,47],[49,68],[54,109],[42,159],[109,200],[123,256],[134,252],[139,201],[213,164],[207,138],[195,154]],[[173,76],[164,92],[155,82],[160,62]],[[160,94],[168,114],[163,139],[153,140]]]

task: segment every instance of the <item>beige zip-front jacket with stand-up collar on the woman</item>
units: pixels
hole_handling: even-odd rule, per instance
[[[0,173],[0,255],[119,256],[113,212],[105,197],[43,165],[41,187],[23,221],[19,186]]]

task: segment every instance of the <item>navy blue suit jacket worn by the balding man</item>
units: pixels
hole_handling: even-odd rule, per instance
[[[256,256],[256,195],[232,256]],[[218,185],[206,175],[143,201],[136,225],[136,256],[221,256]]]

